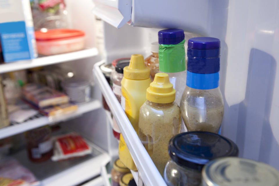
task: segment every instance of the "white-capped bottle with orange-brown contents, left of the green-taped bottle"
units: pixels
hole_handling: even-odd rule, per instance
[[[150,78],[153,81],[155,74],[159,72],[159,43],[151,43],[152,54],[145,59],[145,66],[150,69]]]

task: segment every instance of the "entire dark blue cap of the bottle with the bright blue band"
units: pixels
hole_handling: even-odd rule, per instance
[[[194,37],[188,40],[187,71],[213,74],[220,70],[220,40],[214,37]]]

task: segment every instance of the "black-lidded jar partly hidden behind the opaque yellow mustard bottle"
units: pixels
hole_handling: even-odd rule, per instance
[[[117,63],[115,71],[112,71],[110,75],[110,80],[112,81],[112,91],[119,103],[121,103],[121,80],[123,78],[123,68],[128,66],[129,63],[129,61]]]

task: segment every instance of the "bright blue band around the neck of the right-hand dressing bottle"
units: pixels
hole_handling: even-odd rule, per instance
[[[209,90],[219,87],[219,72],[197,74],[187,70],[186,85],[190,88]]]

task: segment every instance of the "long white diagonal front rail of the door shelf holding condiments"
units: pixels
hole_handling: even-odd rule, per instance
[[[155,167],[153,161],[145,150],[142,142],[140,141],[137,133],[135,132],[133,126],[131,125],[129,119],[127,118],[124,110],[113,94],[110,85],[105,79],[105,76],[102,74],[100,65],[105,63],[105,61],[97,62],[94,65],[93,74],[95,80],[98,83],[101,92],[110,107],[110,110],[117,121],[121,134],[124,137],[124,140],[128,146],[130,154],[137,166],[137,170],[144,182],[144,185],[148,186],[167,186],[159,173],[158,169]]]

